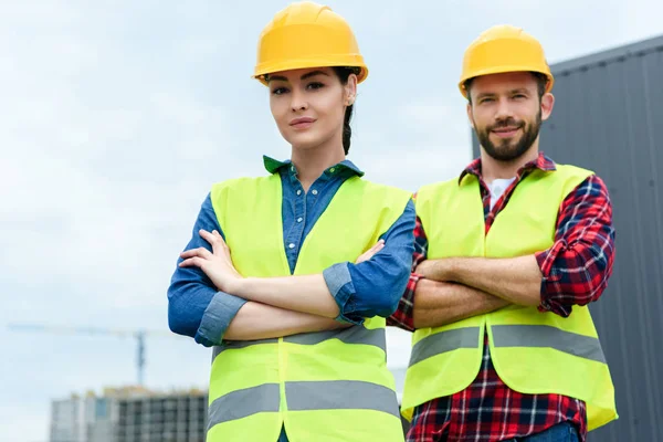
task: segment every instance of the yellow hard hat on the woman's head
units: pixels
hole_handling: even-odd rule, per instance
[[[352,30],[329,7],[311,1],[290,4],[263,29],[253,77],[305,67],[357,67],[357,82],[368,75]]]

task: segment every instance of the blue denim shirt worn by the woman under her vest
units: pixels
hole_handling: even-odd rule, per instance
[[[364,172],[344,160],[325,170],[304,192],[290,160],[264,157],[264,164],[270,173],[281,175],[283,243],[293,273],[302,243],[336,191],[346,179]],[[381,236],[385,248],[380,253],[364,263],[344,262],[324,270],[325,282],[339,307],[338,320],[361,324],[364,317],[388,317],[396,311],[410,276],[414,221],[414,204],[409,201],[400,218]],[[200,229],[210,232],[215,229],[223,235],[209,194],[185,250],[203,246],[211,251],[210,244],[200,238]],[[180,262],[178,259],[177,263]],[[219,292],[200,269],[176,267],[168,287],[168,323],[172,332],[211,347],[221,344],[225,329],[244,303],[245,299]]]

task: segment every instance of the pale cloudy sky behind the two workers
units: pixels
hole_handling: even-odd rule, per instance
[[[146,386],[206,388],[210,350],[168,333],[176,260],[213,182],[290,156],[250,77],[287,1],[229,3],[0,1],[0,440],[48,441],[51,400],[136,382],[130,337],[9,324],[155,330]],[[348,159],[412,191],[472,159],[456,83],[483,30],[523,27],[552,65],[663,34],[655,0],[327,4],[369,67]],[[404,367],[410,335],[388,338]]]

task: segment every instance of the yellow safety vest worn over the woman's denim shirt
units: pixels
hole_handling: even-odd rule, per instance
[[[313,227],[295,275],[355,262],[403,212],[411,194],[347,179]],[[215,185],[212,206],[244,276],[290,275],[278,173]],[[343,330],[224,343],[214,347],[208,442],[403,441],[394,380],[386,365],[386,319]]]

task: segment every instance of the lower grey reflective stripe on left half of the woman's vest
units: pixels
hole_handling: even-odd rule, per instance
[[[208,430],[218,423],[246,418],[261,412],[277,412],[281,403],[278,383],[231,391],[214,399],[209,408]]]

